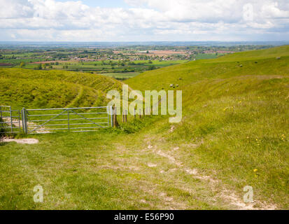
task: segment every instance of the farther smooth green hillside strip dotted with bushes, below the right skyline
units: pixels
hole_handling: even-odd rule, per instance
[[[239,57],[236,55],[230,56]],[[204,79],[213,80],[216,78],[232,78],[234,76],[283,76],[289,74],[289,53],[287,56],[281,57],[281,59],[274,57],[244,62],[239,61],[241,60],[218,62],[217,59],[210,59],[188,62],[141,73],[139,76],[126,80],[125,83],[136,90],[162,90],[162,88],[164,90],[173,90],[169,87],[170,84],[178,84],[179,87],[176,90],[182,90],[188,84]]]

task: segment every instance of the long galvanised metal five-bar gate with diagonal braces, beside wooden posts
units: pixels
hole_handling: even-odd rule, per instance
[[[95,132],[113,125],[112,107],[22,109],[25,134]]]

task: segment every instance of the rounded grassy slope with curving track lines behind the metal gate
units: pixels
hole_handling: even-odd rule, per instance
[[[102,106],[108,90],[121,90],[112,78],[68,71],[0,69],[0,104],[18,108]]]

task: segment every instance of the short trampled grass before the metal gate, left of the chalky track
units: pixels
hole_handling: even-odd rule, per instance
[[[166,178],[160,175],[160,168],[147,167],[148,162],[160,159],[134,146],[138,136],[101,133],[38,138],[38,146],[1,146],[5,148],[1,158],[9,161],[1,160],[1,176],[6,174],[0,183],[1,209],[177,209],[179,204],[214,208],[178,189],[187,182],[199,189],[202,197],[206,189],[198,181],[171,174],[179,183],[164,186]],[[32,200],[33,188],[38,184],[44,190],[42,204]],[[177,201],[164,202],[163,192]]]

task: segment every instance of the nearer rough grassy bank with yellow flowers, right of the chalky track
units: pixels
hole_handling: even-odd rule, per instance
[[[289,77],[277,76],[194,84],[190,92],[195,100],[184,99],[185,118],[168,141],[202,139],[202,146],[190,152],[202,161],[199,169],[217,172],[224,183],[239,189],[253,186],[263,200],[288,207],[283,200],[289,193],[288,84]]]

